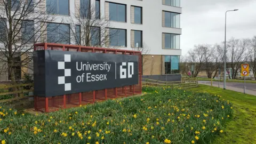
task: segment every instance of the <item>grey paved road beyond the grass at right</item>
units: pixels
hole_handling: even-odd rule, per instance
[[[211,85],[209,81],[198,81],[199,84]],[[212,86],[218,87],[219,82],[212,82]],[[223,89],[223,82],[220,82],[220,87]],[[226,83],[226,89],[242,92],[244,93],[244,83]],[[256,96],[256,84],[255,83],[246,83],[245,84],[245,93]]]

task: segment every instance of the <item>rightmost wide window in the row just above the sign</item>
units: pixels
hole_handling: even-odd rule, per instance
[[[126,29],[109,29],[110,46],[126,47]]]

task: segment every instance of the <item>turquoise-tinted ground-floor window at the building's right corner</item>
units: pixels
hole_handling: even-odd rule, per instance
[[[179,61],[178,55],[163,55],[165,74],[179,74]]]

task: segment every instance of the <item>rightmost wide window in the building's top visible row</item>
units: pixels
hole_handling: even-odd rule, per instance
[[[126,5],[109,3],[109,20],[126,22]]]

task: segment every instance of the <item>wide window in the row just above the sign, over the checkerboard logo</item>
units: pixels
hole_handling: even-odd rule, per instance
[[[69,25],[47,23],[47,43],[70,43]]]

